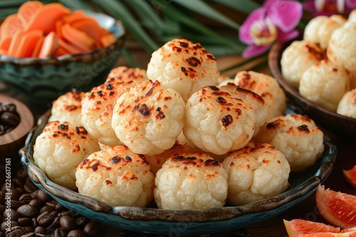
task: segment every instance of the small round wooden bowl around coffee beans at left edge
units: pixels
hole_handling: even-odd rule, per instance
[[[0,165],[9,164],[6,159],[11,159],[11,165],[20,163],[19,150],[25,145],[28,132],[33,128],[33,114],[21,101],[0,94],[0,103],[12,103],[16,105],[16,111],[20,116],[20,123],[9,133],[0,136]]]

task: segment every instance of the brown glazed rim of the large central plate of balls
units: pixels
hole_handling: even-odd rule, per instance
[[[324,182],[328,175],[330,175],[337,155],[337,148],[325,137],[325,151],[322,156],[323,162],[320,161],[321,163],[318,167],[313,167],[313,171],[310,172],[308,178],[305,178],[305,180],[297,186],[286,189],[282,194],[250,204],[199,210],[165,210],[151,207],[111,206],[98,199],[87,197],[51,182],[40,168],[34,164],[33,158],[31,157],[31,145],[34,144],[36,136],[41,133],[41,129],[45,126],[48,116],[51,114],[50,112],[51,111],[47,111],[46,114],[43,114],[43,116],[38,119],[37,126],[34,126],[30,133],[28,133],[26,145],[19,150],[21,164],[28,173],[28,176],[36,186],[42,188],[48,194],[56,194],[54,196],[60,200],[80,204],[91,211],[117,215],[129,221],[194,221],[196,223],[204,223],[209,221],[225,221],[226,219],[234,219],[246,214],[256,214],[278,209],[290,202],[305,199],[314,192],[318,185]],[[221,215],[216,215],[216,213]],[[223,213],[224,215],[222,215]]]

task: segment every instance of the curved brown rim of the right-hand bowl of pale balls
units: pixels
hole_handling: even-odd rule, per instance
[[[356,128],[356,118],[352,118],[352,117],[348,117],[348,116],[344,116],[342,114],[337,114],[334,113],[332,111],[328,111],[327,109],[324,109],[323,107],[319,106],[318,104],[315,104],[313,101],[310,101],[308,99],[306,99],[305,97],[302,97],[299,92],[293,88],[290,84],[288,84],[288,82],[286,82],[286,80],[283,78],[282,72],[281,72],[281,57],[282,57],[282,53],[283,50],[290,45],[290,43],[292,43],[294,40],[289,40],[285,43],[280,43],[280,42],[276,42],[272,45],[271,50],[268,53],[268,66],[269,69],[271,70],[271,73],[273,75],[273,77],[275,77],[279,84],[281,85],[281,87],[283,87],[283,89],[288,92],[289,94],[291,94],[295,99],[298,99],[298,104],[300,103],[305,105],[307,104],[308,106],[312,106],[313,109],[315,109],[316,111],[326,114],[328,116],[333,116],[335,118],[339,118],[339,119],[343,119],[345,121],[347,121],[348,123],[355,123],[354,126]]]

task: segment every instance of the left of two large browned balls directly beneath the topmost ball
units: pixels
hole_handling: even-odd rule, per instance
[[[184,100],[160,82],[137,82],[112,111],[112,129],[132,151],[157,155],[172,148],[182,132]]]

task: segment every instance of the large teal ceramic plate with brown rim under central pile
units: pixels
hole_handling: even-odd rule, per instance
[[[48,116],[45,114],[38,126],[28,134],[26,146],[20,150],[21,163],[37,187],[68,209],[130,231],[145,233],[204,234],[236,230],[258,222],[271,219],[313,194],[318,185],[330,174],[335,163],[337,149],[325,139],[325,153],[318,162],[303,172],[291,173],[291,186],[276,197],[263,199],[243,206],[225,206],[202,210],[162,210],[155,204],[147,208],[110,206],[91,197],[85,197],[70,189],[51,182],[33,162],[33,144],[36,137],[46,126]]]

